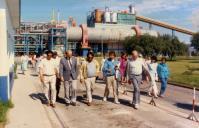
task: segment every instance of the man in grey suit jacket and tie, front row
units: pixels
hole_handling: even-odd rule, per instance
[[[61,81],[64,82],[66,104],[76,106],[78,65],[71,50],[66,51],[65,57],[61,59],[59,72]]]

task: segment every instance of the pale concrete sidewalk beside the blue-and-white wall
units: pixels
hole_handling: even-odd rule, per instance
[[[29,74],[18,74],[15,80],[12,101],[14,108],[9,111],[6,128],[53,128],[50,122],[50,111],[39,100],[31,95],[37,91],[33,78]]]

